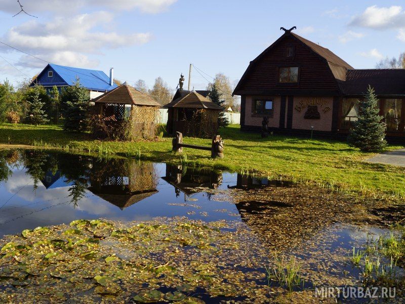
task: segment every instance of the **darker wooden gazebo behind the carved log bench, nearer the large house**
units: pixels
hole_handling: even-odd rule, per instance
[[[176,93],[172,102],[163,107],[168,109],[169,134],[179,131],[185,136],[204,138],[212,138],[217,134],[218,116],[224,110],[196,91]]]

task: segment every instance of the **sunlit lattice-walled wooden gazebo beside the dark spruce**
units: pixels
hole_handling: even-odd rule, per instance
[[[92,101],[94,137],[134,140],[156,136],[160,104],[127,83]]]

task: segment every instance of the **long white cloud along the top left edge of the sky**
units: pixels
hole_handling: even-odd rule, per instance
[[[24,10],[29,14],[55,12],[66,15],[88,7],[97,10],[111,9],[115,11],[140,10],[142,13],[156,14],[167,10],[177,0],[23,0]],[[20,10],[15,0],[0,0],[0,11],[16,14]]]

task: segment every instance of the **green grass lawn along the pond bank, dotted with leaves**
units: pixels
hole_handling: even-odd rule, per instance
[[[181,156],[171,151],[172,139],[117,142],[92,140],[87,134],[63,132],[60,126],[0,126],[0,142],[56,146],[70,151],[134,156],[158,162],[180,163]],[[224,139],[224,159],[210,158],[210,152],[184,148],[187,163],[297,182],[315,182],[322,186],[369,194],[405,194],[405,168],[365,163],[374,154],[362,153],[345,142],[310,140],[286,136],[261,138],[260,134],[242,133],[239,126],[220,129]],[[185,143],[210,145],[210,139],[185,138]],[[389,146],[388,149],[402,146]],[[183,155],[184,155],[183,154]],[[183,160],[184,161],[184,160]]]

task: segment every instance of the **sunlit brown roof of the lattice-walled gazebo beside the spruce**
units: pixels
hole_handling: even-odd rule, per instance
[[[160,104],[154,101],[151,97],[127,85],[126,83],[107,93],[104,93],[92,101],[95,103],[121,103],[160,107]]]

